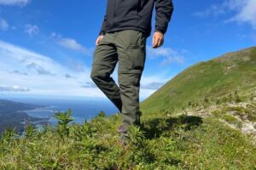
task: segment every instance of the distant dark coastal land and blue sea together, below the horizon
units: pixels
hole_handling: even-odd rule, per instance
[[[118,113],[117,108],[108,99],[0,99],[0,133],[4,127],[15,125],[18,131],[23,131],[26,122],[32,122],[37,127],[45,124],[55,126],[55,112],[65,112],[68,109],[73,111],[73,122],[76,123],[89,121],[100,111],[109,116]]]

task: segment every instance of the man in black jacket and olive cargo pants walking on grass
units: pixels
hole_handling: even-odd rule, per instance
[[[159,48],[172,17],[172,0],[108,0],[102,29],[96,39],[90,77],[122,114],[118,129],[122,142],[127,142],[131,125],[140,125],[139,88],[154,4],[152,47]],[[110,77],[117,62],[119,86]]]

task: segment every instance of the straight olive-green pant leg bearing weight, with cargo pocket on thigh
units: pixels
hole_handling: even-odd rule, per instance
[[[123,127],[140,124],[139,90],[146,59],[146,37],[140,31],[117,32],[115,45],[119,56],[119,88]]]

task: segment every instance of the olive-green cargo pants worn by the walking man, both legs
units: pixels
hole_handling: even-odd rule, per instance
[[[122,127],[140,124],[139,88],[146,57],[144,33],[124,30],[106,33],[96,46],[90,77],[119,109]],[[111,74],[119,62],[118,82]]]

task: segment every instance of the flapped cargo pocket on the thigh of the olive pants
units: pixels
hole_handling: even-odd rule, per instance
[[[132,61],[132,69],[143,71],[145,64],[145,46],[129,45],[128,54]]]

